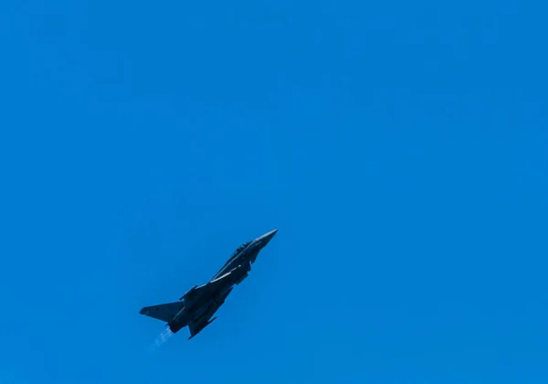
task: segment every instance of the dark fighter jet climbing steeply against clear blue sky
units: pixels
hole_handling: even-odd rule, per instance
[[[251,264],[257,260],[258,252],[265,248],[276,232],[278,229],[271,230],[255,240],[244,242],[209,282],[200,286],[195,285],[184,293],[178,302],[145,306],[140,314],[167,322],[173,333],[188,325],[190,340],[205,326],[215,321],[216,317],[211,317],[225,303],[234,285],[242,283],[248,277]]]

